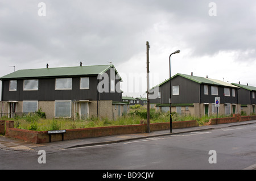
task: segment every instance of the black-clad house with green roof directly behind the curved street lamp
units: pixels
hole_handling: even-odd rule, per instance
[[[156,89],[156,87],[158,89]],[[215,97],[220,97],[221,115],[240,113],[239,87],[216,79],[197,77],[193,74],[176,74],[171,78],[172,111],[180,115],[205,116],[216,114]],[[162,111],[170,111],[170,79],[153,87],[159,90],[157,99],[150,99]]]

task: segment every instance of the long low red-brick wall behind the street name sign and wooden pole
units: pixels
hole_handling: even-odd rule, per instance
[[[24,129],[13,128],[14,121],[6,121],[6,136],[18,138],[20,140],[42,144],[49,142],[49,134],[47,131],[37,132]],[[172,128],[188,128],[198,127],[197,121],[178,121],[172,122]],[[64,133],[64,140],[74,140],[79,138],[111,136],[118,134],[133,134],[145,133],[147,124],[137,125],[122,125],[114,127],[98,127],[98,128],[82,128],[82,129],[67,129]],[[160,131],[170,129],[170,123],[152,123],[150,131]],[[51,142],[61,141],[62,134],[51,134]]]

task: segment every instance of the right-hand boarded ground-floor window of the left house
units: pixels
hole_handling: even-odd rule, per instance
[[[55,101],[55,117],[71,117],[71,101]]]

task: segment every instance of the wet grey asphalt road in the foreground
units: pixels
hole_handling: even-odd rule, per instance
[[[241,170],[256,163],[256,124],[48,151],[41,164],[40,156],[0,150],[0,169]]]

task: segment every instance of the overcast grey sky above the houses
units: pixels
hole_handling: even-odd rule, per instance
[[[169,77],[169,56],[177,49],[181,52],[171,57],[172,75],[193,71],[256,86],[255,32],[254,0],[1,0],[0,76],[13,72],[11,66],[111,61],[123,78],[123,95],[142,96],[148,41],[150,87]],[[139,90],[132,80],[136,74],[142,80]]]

